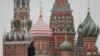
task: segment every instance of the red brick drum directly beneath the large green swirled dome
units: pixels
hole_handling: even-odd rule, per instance
[[[84,37],[84,48],[86,52],[96,52],[96,38],[95,37]]]

